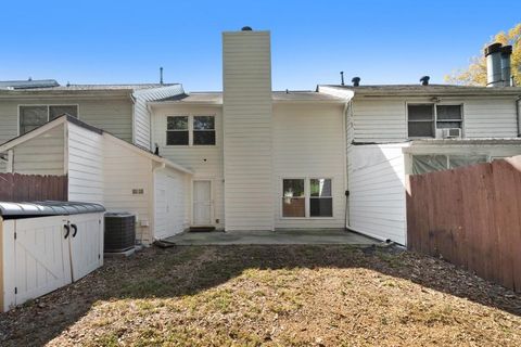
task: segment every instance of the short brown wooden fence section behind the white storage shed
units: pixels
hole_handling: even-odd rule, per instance
[[[67,201],[67,176],[0,174],[0,201]]]

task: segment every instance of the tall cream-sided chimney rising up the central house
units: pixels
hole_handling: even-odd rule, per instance
[[[272,230],[272,104],[267,31],[224,33],[227,230]]]

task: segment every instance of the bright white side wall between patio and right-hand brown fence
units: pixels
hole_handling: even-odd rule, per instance
[[[350,151],[348,227],[380,240],[406,242],[404,144]]]

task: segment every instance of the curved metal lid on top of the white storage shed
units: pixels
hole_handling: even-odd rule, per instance
[[[93,203],[56,201],[27,203],[0,202],[0,216],[8,218],[69,216],[103,211],[105,211],[105,208],[102,205]]]

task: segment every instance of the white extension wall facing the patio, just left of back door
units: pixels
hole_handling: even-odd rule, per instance
[[[189,227],[190,176],[174,169],[155,172],[154,237],[165,239]]]

